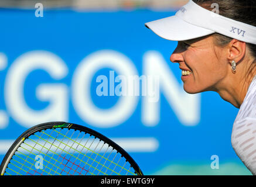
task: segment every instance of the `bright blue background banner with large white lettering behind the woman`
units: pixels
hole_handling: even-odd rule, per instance
[[[174,13],[1,9],[0,161],[29,127],[66,121],[116,141],[146,175],[250,175],[231,147],[238,109],[183,91],[176,41],[144,26]],[[118,95],[118,75],[158,77],[155,101],[142,84]]]

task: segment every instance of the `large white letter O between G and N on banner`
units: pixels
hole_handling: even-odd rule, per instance
[[[100,109],[94,105],[90,96],[93,75],[101,68],[107,67],[126,77],[138,75],[132,61],[124,54],[112,50],[102,50],[90,54],[81,61],[74,72],[71,83],[71,99],[77,114],[84,122],[103,128],[114,127],[125,122],[134,112],[138,102],[136,96],[120,96],[115,106],[110,109]],[[132,89],[133,85],[130,81],[132,80],[128,80],[127,83],[128,90]],[[114,95],[114,88],[110,88],[110,95]]]

